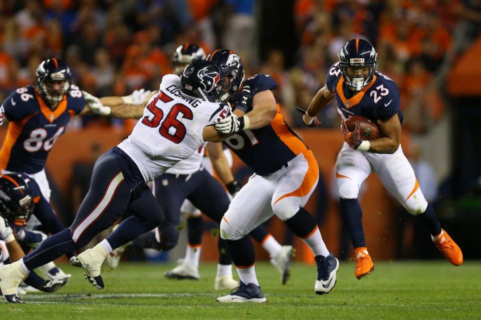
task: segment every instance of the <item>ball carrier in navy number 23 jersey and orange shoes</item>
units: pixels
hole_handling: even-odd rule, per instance
[[[337,184],[341,214],[346,223],[356,256],[355,276],[361,278],[374,270],[362,228],[362,210],[358,195],[362,182],[371,172],[377,173],[387,190],[423,223],[431,239],[454,265],[462,263],[462,252],[436,218],[400,145],[403,114],[399,90],[388,76],[376,71],[377,52],[366,40],[355,38],[344,44],[339,62],[329,68],[326,84],[314,96],[303,115],[312,125],[315,115],[336,99],[342,118],[344,144],[337,157]],[[359,125],[350,132],[344,120],[363,115],[379,126],[381,137],[364,141]]]

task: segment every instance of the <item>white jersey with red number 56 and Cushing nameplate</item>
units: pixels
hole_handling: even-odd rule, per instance
[[[137,164],[146,182],[188,158],[205,143],[202,130],[230,112],[225,103],[183,95],[180,77],[167,74],[132,133],[118,145]]]

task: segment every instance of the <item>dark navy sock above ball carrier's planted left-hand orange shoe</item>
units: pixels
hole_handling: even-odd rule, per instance
[[[356,199],[339,199],[341,215],[351,237],[352,246],[366,246],[364,238],[364,230],[362,228],[362,209],[359,200]]]

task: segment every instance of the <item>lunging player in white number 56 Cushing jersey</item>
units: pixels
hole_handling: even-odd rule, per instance
[[[99,289],[104,287],[100,267],[105,257],[164,218],[147,182],[189,157],[205,141],[223,138],[210,125],[230,114],[228,105],[210,102],[218,101],[221,95],[219,73],[217,66],[202,60],[188,65],[180,78],[162,78],[159,92],[150,99],[132,134],[97,160],[89,192],[72,225],[45,239],[23,259],[0,267],[4,295],[16,294],[30,270],[86,245],[129,209],[133,216],[77,257],[88,280]]]

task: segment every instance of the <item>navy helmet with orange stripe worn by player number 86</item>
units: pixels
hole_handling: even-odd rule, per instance
[[[55,104],[67,98],[72,84],[72,73],[63,60],[58,58],[43,60],[37,67],[35,75],[39,93],[49,104]],[[58,82],[60,87],[56,88],[55,82]]]

